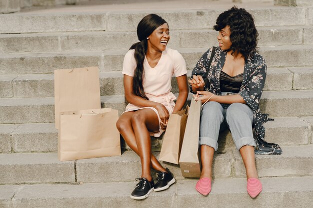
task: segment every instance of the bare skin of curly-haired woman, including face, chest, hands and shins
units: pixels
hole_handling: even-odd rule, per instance
[[[221,29],[217,35],[217,41],[219,42],[219,46],[222,50],[227,50],[231,46],[230,41],[230,27],[227,25],[225,28]],[[236,76],[238,74],[243,73],[244,70],[244,57],[241,53],[234,51],[228,51],[226,54],[225,64],[222,68],[222,71],[230,76]],[[203,78],[198,75],[193,75],[191,80],[188,80],[188,83],[191,84],[191,88],[193,92],[197,94],[194,95],[196,100],[200,100],[203,104],[209,98],[209,101],[215,101],[223,104],[232,104],[232,103],[243,103],[246,104],[243,98],[239,95],[227,95],[227,96],[218,96],[213,95],[211,92],[203,91],[204,89],[204,81]],[[202,96],[200,96],[202,95]],[[212,96],[212,97],[211,97]],[[200,146],[201,152],[201,178],[209,178],[212,179],[212,163],[214,156],[214,149],[207,145]],[[246,178],[258,178],[255,160],[254,160],[254,148],[252,146],[245,145],[239,150],[241,158],[243,160],[243,164],[246,170]]]

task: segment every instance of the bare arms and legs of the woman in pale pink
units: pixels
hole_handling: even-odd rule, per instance
[[[173,112],[177,112],[183,107],[184,100],[188,95],[188,89],[185,86],[187,82],[186,75],[176,77],[176,79],[178,83],[179,95],[177,97],[177,102]],[[127,82],[128,86],[129,82],[132,84],[132,77],[124,75],[124,86],[127,86]],[[141,97],[135,96],[132,92],[131,87],[128,87],[127,92],[125,87],[125,97],[126,99],[127,97],[135,99],[135,101],[132,102],[137,101],[138,103],[141,104],[140,105],[141,107],[150,106],[155,107],[155,109],[158,109],[157,110],[158,112],[163,111],[164,114],[162,117],[159,114],[160,118],[163,120],[164,123],[166,123],[166,121],[168,120],[169,114],[165,106],[163,106],[160,103],[145,100]],[[131,100],[131,98],[129,99]],[[160,126],[160,124],[158,123],[157,115],[152,109],[145,108],[137,111],[125,112],[119,117],[117,126],[120,134],[124,138],[127,145],[137,155],[140,156],[142,168],[141,178],[146,178],[148,181],[152,180],[150,172],[151,166],[154,170],[166,172],[166,170],[161,166],[157,159],[151,154],[151,140],[149,132],[158,132]],[[140,155],[140,153],[142,155]]]

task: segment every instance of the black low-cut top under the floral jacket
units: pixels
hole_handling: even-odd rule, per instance
[[[236,76],[229,76],[221,71],[219,75],[219,84],[221,92],[234,92],[240,91],[240,86],[243,81],[243,73]]]

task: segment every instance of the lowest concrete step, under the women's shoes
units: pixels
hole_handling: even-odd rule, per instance
[[[309,208],[313,203],[313,177],[260,181],[263,190],[254,200],[246,193],[245,179],[216,179],[208,197],[195,191],[196,180],[177,181],[166,191],[152,192],[144,201],[129,197],[135,182],[2,185],[0,204],[3,208],[204,208],[211,204],[216,208]]]

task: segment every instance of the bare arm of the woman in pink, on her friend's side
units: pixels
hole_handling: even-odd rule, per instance
[[[176,100],[173,113],[181,110],[188,97],[187,75],[184,74],[182,76],[178,76],[176,77],[176,80],[179,89],[179,94]]]

